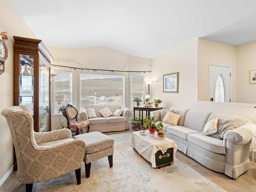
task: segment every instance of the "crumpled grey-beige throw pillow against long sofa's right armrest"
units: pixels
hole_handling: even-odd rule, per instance
[[[242,124],[244,124],[243,119],[233,119],[233,120],[219,119],[218,131],[216,134],[211,135],[211,137],[223,139],[226,131],[236,129],[237,127],[241,126]]]

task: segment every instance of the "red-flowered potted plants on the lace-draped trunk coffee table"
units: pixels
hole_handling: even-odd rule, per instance
[[[157,132],[157,136],[161,138],[164,138],[166,135],[163,130],[162,122],[159,122],[159,120],[155,120],[154,117],[150,118],[150,116],[146,116],[143,119],[143,126],[145,129],[148,129],[150,131],[150,134],[155,134],[155,132]]]

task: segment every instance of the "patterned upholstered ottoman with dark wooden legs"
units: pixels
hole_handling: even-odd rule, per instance
[[[81,139],[86,143],[86,155],[84,164],[86,166],[86,178],[90,177],[91,163],[108,156],[110,167],[113,166],[114,139],[100,132],[91,132],[76,135],[75,139]]]

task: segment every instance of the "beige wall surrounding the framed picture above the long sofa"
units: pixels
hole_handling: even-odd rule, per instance
[[[190,40],[153,59],[152,99],[162,99],[164,108],[190,108],[197,102],[198,39]],[[180,72],[179,93],[163,93],[163,74]]]

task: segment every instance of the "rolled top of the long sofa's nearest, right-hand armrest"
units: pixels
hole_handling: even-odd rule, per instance
[[[247,144],[251,142],[252,134],[245,127],[240,126],[237,129],[227,131],[224,138],[232,141],[234,144]]]

